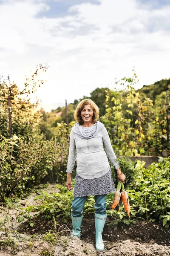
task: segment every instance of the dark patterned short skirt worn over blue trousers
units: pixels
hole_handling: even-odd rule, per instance
[[[111,168],[102,177],[95,179],[83,179],[76,175],[74,186],[74,197],[83,197],[88,195],[106,195],[115,191],[113,178],[111,177]]]

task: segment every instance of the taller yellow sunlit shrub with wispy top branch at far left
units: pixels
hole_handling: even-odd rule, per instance
[[[40,133],[42,113],[37,108],[38,99],[31,103],[30,95],[34,93],[43,81],[37,80],[40,70],[47,70],[39,65],[30,77],[26,78],[25,88],[21,91],[16,84],[0,83],[0,134],[9,138],[8,130],[8,97],[11,99],[12,134],[24,138],[26,141],[32,135]]]

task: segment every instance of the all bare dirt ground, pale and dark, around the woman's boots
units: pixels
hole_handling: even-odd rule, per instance
[[[57,192],[55,185],[43,189],[48,193]],[[11,207],[6,224],[0,228],[0,256],[170,256],[170,230],[161,222],[137,221],[123,226],[108,226],[103,231],[105,250],[95,249],[94,216],[87,215],[82,221],[81,240],[71,238],[71,222],[59,225],[54,232],[54,221],[36,219],[34,227],[27,223],[18,224],[16,217],[22,207],[40,204],[34,201],[36,194],[20,200]],[[0,207],[0,223],[6,218],[5,207]],[[2,224],[0,224],[1,226]]]

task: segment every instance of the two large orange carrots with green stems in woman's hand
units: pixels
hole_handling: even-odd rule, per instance
[[[122,191],[120,192],[121,188],[122,188]],[[129,204],[128,195],[127,195],[127,192],[125,191],[125,188],[124,188],[124,185],[123,185],[122,181],[119,180],[118,184],[117,184],[117,189],[114,192],[114,196],[113,196],[112,209],[115,209],[116,206],[119,204],[120,197],[122,197],[122,201],[123,201],[123,205],[125,207],[125,211],[127,212],[127,215],[130,218],[130,204]]]

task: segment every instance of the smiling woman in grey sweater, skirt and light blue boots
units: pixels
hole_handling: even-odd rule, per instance
[[[80,238],[82,213],[88,195],[95,198],[96,250],[104,250],[103,227],[107,218],[106,196],[115,190],[108,158],[117,170],[118,180],[125,183],[125,175],[113,151],[105,126],[97,121],[99,108],[90,99],[84,99],[74,112],[76,125],[71,129],[66,186],[71,191],[71,172],[77,160],[74,199],[71,207],[72,236]],[[106,153],[108,155],[106,155]]]

